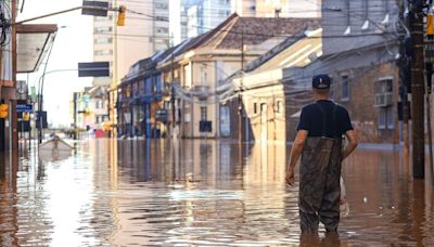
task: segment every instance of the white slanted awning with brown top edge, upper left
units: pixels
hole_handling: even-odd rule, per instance
[[[53,36],[58,31],[55,24],[16,25],[16,72],[33,73],[38,70],[48,53]]]

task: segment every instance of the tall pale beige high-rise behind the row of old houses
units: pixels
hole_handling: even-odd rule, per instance
[[[168,49],[170,43],[168,0],[118,0],[117,6],[122,4],[127,9],[125,26],[114,25],[113,28],[113,82],[108,90],[108,110],[113,126],[117,125],[116,102],[119,94],[118,84],[123,78],[127,77],[130,67],[137,61]]]

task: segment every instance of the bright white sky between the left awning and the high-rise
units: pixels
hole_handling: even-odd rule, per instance
[[[82,0],[26,0],[17,20],[26,20],[58,11],[80,6]],[[80,11],[41,18],[31,23],[58,24],[54,47],[47,64],[43,88],[43,107],[48,110],[48,121],[55,127],[67,127],[73,122],[69,102],[73,92],[91,86],[91,78],[78,78],[77,72],[54,72],[76,69],[79,62],[92,62],[92,17]],[[47,57],[46,57],[47,58]],[[44,64],[33,74],[20,74],[17,79],[35,86],[42,75]],[[53,72],[53,73],[49,73]]]

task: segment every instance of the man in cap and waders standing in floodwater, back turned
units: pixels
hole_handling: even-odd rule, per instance
[[[302,233],[318,233],[319,221],[327,232],[336,232],[340,222],[341,162],[357,146],[348,112],[330,101],[328,75],[312,78],[315,103],[302,109],[297,135],[291,150],[286,183],[295,184],[294,167],[299,168],[299,224]],[[342,148],[342,136],[348,144]]]

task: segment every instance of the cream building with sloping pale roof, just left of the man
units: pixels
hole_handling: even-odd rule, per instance
[[[230,107],[230,138],[246,142],[286,141],[286,132],[293,128],[286,119],[292,114],[293,101],[299,92],[296,87],[283,83],[283,70],[288,67],[308,66],[322,53],[322,28],[304,35],[298,39],[290,37],[270,51],[248,63],[244,73],[229,78],[227,83],[243,87],[225,105]],[[291,101],[292,100],[292,101]],[[309,99],[310,100],[310,99]],[[305,101],[306,103],[306,101]]]

